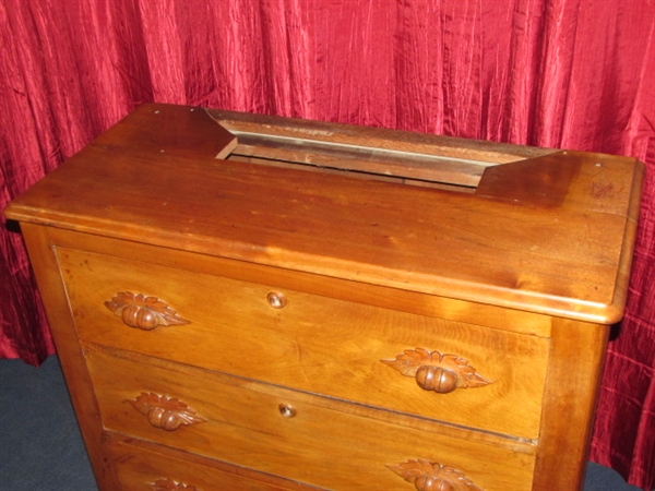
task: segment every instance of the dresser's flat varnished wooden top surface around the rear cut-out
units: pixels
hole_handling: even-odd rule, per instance
[[[290,123],[323,141],[340,131],[376,135],[378,143],[394,135],[412,148],[432,145],[451,156],[502,163],[484,170],[475,192],[461,193],[223,159],[235,140],[217,124],[222,115],[141,106],[5,214],[558,316],[614,323],[622,315],[643,176],[639,161]]]

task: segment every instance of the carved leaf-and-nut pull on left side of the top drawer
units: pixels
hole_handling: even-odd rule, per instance
[[[134,295],[131,291],[116,294],[105,307],[120,316],[130,327],[150,331],[159,325],[182,325],[189,321],[177,315],[157,297],[146,297],[143,294]]]

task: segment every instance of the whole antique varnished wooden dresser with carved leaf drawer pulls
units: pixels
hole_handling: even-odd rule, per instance
[[[144,105],[5,211],[100,489],[580,489],[642,165]]]

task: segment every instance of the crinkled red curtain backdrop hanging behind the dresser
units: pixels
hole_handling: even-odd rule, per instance
[[[153,100],[646,163],[592,458],[654,486],[655,0],[0,0],[0,206]],[[1,225],[0,356],[38,364],[55,347]]]

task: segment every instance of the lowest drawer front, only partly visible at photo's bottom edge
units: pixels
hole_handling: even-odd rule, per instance
[[[111,442],[109,453],[116,465],[121,491],[287,491],[315,490],[302,484],[276,483],[270,476],[261,480],[242,476],[242,469],[229,471],[162,455],[121,442]],[[250,472],[254,474],[254,472]]]

